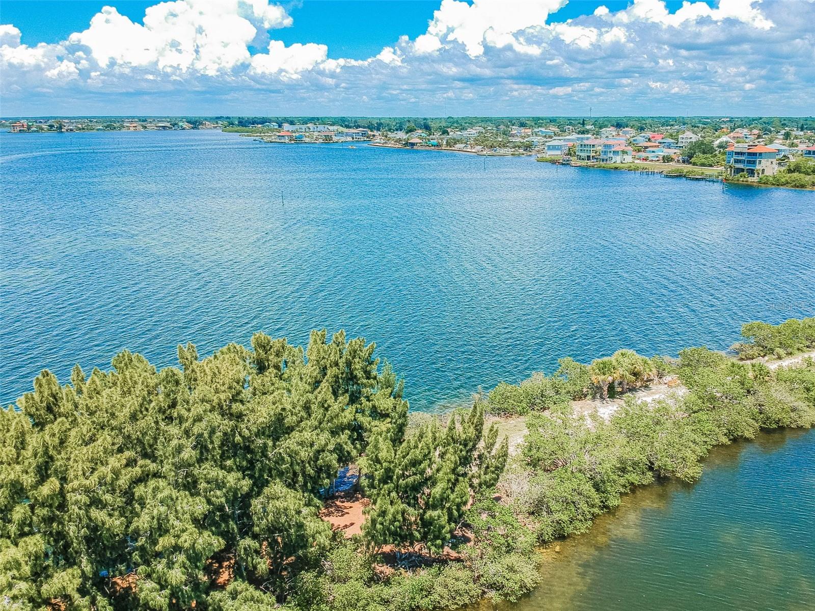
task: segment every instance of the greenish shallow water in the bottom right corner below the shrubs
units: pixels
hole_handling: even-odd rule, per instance
[[[499,609],[815,609],[813,516],[815,430],[764,433],[716,448],[693,486],[628,495],[544,552],[542,585]]]

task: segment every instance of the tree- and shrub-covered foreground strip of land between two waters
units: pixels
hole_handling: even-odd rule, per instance
[[[258,333],[205,358],[179,346],[161,371],[125,350],[69,385],[43,371],[20,411],[0,411],[0,596],[178,611],[518,600],[545,578],[541,545],[637,486],[694,481],[713,446],[815,425],[815,318],[742,337],[740,361],[562,358],[412,422],[392,368],[343,332],[307,349]]]

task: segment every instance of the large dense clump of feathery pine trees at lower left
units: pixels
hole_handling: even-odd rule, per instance
[[[179,347],[180,367],[124,351],[68,385],[43,371],[0,410],[0,600],[191,609],[224,559],[232,589],[283,600],[328,545],[320,490],[403,437],[402,385],[373,351],[257,334],[206,358]]]

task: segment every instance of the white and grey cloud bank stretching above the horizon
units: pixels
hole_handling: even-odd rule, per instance
[[[599,7],[558,22],[567,0],[442,0],[428,28],[368,59],[286,46],[267,0],[175,0],[143,24],[104,7],[56,44],[0,25],[4,116],[808,115],[815,1]]]

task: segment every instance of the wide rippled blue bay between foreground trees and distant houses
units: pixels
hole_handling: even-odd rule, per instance
[[[208,131],[0,134],[0,402],[130,348],[376,341],[430,410],[815,312],[815,193]]]

